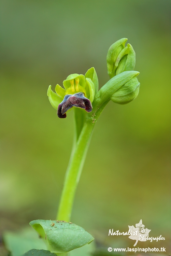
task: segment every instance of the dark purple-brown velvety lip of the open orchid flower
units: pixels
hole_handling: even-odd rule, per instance
[[[87,112],[92,111],[91,101],[87,99],[83,93],[67,94],[58,106],[58,117],[66,118],[66,112],[73,106],[85,109]]]

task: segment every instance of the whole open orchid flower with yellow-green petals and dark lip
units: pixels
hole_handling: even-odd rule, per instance
[[[49,85],[47,96],[51,105],[57,110],[59,118],[66,118],[66,112],[73,108],[82,108],[87,112],[92,111],[92,102],[98,91],[98,77],[95,68],[90,68],[85,75],[71,74],[63,81],[62,88],[56,85],[52,91]]]

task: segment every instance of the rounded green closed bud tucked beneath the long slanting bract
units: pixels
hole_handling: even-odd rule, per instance
[[[111,100],[115,103],[127,104],[137,98],[139,89],[140,83],[137,77],[133,77],[112,95]]]

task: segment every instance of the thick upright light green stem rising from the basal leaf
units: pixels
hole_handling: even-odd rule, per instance
[[[91,140],[92,131],[98,117],[100,116],[101,112],[103,111],[104,107],[108,102],[109,100],[104,102],[101,106],[96,106],[94,108],[95,111],[92,111],[88,114],[86,120],[84,120],[81,131],[79,129],[79,136],[78,129],[76,130],[73,150],[67,168],[65,182],[59,204],[59,210],[57,214],[57,219],[59,220],[64,220],[66,222],[70,221],[75,191],[77,184],[80,180],[80,175],[83,169],[88,146]],[[76,115],[76,117],[78,116]],[[79,127],[81,127],[80,123]]]

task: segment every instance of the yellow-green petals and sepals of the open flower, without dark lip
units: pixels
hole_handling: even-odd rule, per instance
[[[58,109],[58,105],[62,102],[65,95],[76,93],[84,93],[85,97],[91,102],[94,101],[95,93],[98,91],[98,77],[95,68],[90,68],[85,75],[71,74],[63,81],[62,88],[59,84],[56,85],[55,91],[51,89],[51,85],[47,90],[47,96],[54,109]]]

